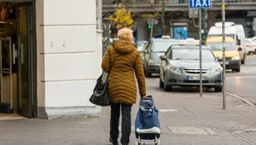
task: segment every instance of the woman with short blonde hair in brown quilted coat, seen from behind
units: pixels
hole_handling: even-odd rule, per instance
[[[108,48],[102,61],[102,69],[109,73],[108,94],[112,102],[109,141],[118,145],[119,116],[122,114],[122,145],[130,142],[131,106],[137,101],[136,78],[141,97],[146,96],[145,76],[141,57],[132,43],[131,29],[123,28],[118,32],[119,40]]]

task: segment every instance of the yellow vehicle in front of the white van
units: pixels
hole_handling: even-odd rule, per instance
[[[221,66],[223,66],[223,47],[222,47],[222,37],[210,37],[207,38],[205,43],[210,49],[212,49],[213,54],[218,58]],[[231,37],[225,37],[225,67],[226,69],[232,69],[232,71],[240,72],[241,59],[238,51],[241,48],[236,48],[235,40]]]

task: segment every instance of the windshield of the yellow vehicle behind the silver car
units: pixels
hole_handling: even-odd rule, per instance
[[[212,49],[212,51],[222,51],[222,43],[208,43],[207,46]],[[236,45],[234,43],[225,43],[225,49],[227,51],[236,50]]]

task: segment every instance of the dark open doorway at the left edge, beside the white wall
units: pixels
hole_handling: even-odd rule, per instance
[[[34,2],[5,2],[0,6],[0,112],[36,117]]]

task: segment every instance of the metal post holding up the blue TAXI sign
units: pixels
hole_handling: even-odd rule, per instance
[[[199,40],[200,40],[200,50],[199,50],[199,63],[200,63],[200,96],[202,96],[202,76],[201,76],[201,9],[199,10]]]

